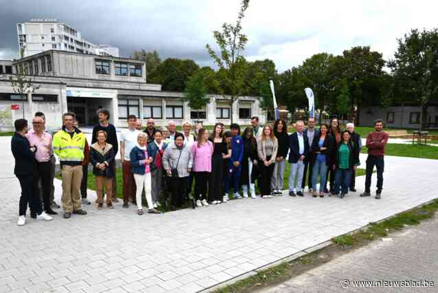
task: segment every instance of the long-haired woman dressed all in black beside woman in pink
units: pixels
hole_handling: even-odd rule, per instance
[[[211,157],[211,175],[209,179],[208,201],[211,204],[220,204],[224,188],[224,156],[227,155],[227,145],[222,142],[222,126],[216,123],[209,138],[213,142]]]

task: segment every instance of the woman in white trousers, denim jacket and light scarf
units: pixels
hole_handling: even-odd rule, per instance
[[[141,207],[141,193],[146,194],[146,201],[148,202],[148,213],[161,214],[159,210],[154,208],[152,203],[152,177],[150,173],[150,164],[154,158],[148,155],[148,134],[141,132],[137,136],[137,145],[134,146],[129,154],[132,166],[132,173],[134,173],[135,185],[137,191],[135,199],[137,201],[137,214],[143,215],[143,208]]]

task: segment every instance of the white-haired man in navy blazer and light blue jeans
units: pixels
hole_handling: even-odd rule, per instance
[[[308,138],[304,135],[304,122],[298,120],[295,128],[297,131],[289,135],[289,164],[290,164],[290,175],[289,175],[289,195],[303,196],[301,191],[301,184],[303,182],[303,172],[304,172],[304,160],[308,156]],[[297,182],[295,183],[295,177],[297,177]]]

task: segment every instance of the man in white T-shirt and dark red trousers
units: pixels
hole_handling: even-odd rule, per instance
[[[135,198],[135,182],[130,163],[130,152],[137,144],[137,137],[141,131],[135,129],[137,117],[128,116],[128,129],[122,131],[120,135],[120,160],[122,160],[123,173],[123,207],[128,208],[129,199]]]

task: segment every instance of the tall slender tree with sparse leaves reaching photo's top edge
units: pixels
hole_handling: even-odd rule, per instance
[[[219,67],[220,74],[218,76],[222,89],[231,96],[231,109],[235,98],[242,93],[243,88],[244,62],[242,62],[242,52],[248,38],[242,34],[242,19],[248,6],[249,0],[242,0],[238,20],[235,24],[224,23],[222,32],[214,31],[214,39],[220,50],[219,54],[209,44],[206,45],[209,55]],[[232,114],[231,123],[233,123]]]

